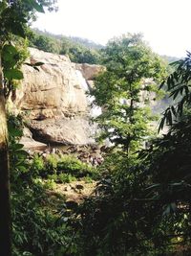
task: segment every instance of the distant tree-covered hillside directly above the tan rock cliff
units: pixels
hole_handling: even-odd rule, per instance
[[[102,45],[80,37],[52,35],[33,30],[29,32],[29,45],[45,52],[67,55],[77,63],[99,64]]]

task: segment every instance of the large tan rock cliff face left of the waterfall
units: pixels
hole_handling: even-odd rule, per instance
[[[89,124],[86,95],[102,66],[75,64],[65,56],[30,49],[31,63],[24,65],[24,80],[16,92],[14,105],[30,121],[35,138],[46,143],[90,144],[94,142]]]

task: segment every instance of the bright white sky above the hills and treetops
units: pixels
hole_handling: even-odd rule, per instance
[[[58,12],[40,13],[33,27],[106,44],[114,36],[141,33],[159,55],[191,51],[191,0],[58,0]]]

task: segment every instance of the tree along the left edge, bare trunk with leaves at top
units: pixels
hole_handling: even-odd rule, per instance
[[[23,78],[19,70],[19,51],[14,36],[26,37],[35,12],[52,8],[53,0],[3,0],[0,2],[0,255],[11,255],[10,170],[6,98],[15,80]]]

